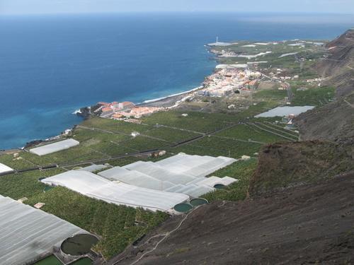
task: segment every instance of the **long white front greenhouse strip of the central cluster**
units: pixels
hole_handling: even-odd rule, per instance
[[[162,192],[154,189],[111,182],[91,172],[72,170],[42,179],[45,184],[59,185],[108,203],[142,207],[152,211],[168,211],[189,199],[186,194]]]

